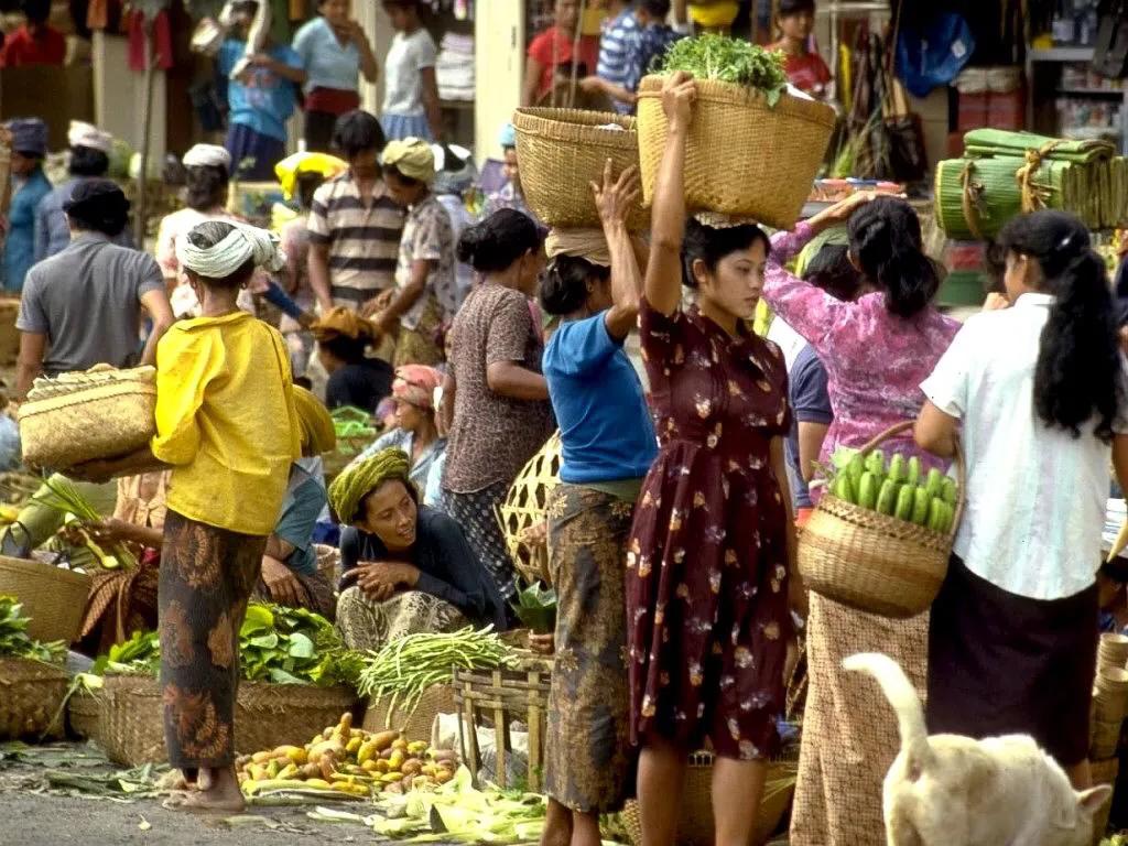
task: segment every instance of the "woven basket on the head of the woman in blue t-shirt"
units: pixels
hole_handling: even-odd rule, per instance
[[[622,129],[601,129],[615,124]],[[616,176],[638,165],[635,118],[573,108],[519,108],[513,114],[521,188],[526,202],[550,227],[600,228],[591,183],[601,183],[611,160]],[[632,231],[650,227],[640,204],[627,219]]]

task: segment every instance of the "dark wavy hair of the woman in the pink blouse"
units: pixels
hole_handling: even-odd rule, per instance
[[[889,312],[910,319],[924,311],[940,290],[940,275],[924,254],[913,206],[879,196],[854,212],[846,230],[851,253],[866,279],[884,292]]]

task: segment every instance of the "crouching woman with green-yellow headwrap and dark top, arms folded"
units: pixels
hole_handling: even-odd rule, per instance
[[[505,628],[501,596],[458,523],[418,504],[406,452],[386,449],[346,468],[329,503],[347,526],[337,627],[350,649],[416,632]]]

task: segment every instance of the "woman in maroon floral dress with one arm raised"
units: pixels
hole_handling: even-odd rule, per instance
[[[716,841],[751,841],[792,628],[787,376],[779,350],[743,323],[759,300],[769,244],[754,226],[686,226],[695,96],[685,74],[662,91],[669,140],[640,311],[661,442],[627,554],[631,729],[642,746],[646,846],[673,843],[688,754],[706,738],[717,755]],[[686,311],[682,267],[698,294]]]

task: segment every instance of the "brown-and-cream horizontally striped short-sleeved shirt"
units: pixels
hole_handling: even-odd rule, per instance
[[[351,170],[317,190],[309,211],[309,243],[329,247],[329,285],[336,305],[360,306],[396,284],[404,214],[382,179],[368,203]]]

